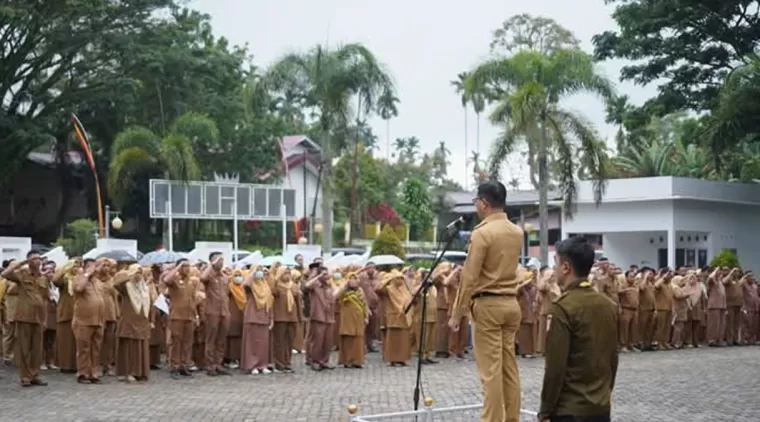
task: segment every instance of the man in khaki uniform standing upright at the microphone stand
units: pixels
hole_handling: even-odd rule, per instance
[[[474,199],[480,224],[470,237],[461,284],[449,319],[458,331],[468,311],[473,324],[473,356],[483,386],[481,422],[518,422],[520,379],[515,335],[520,327],[517,262],[523,231],[504,213],[507,190],[499,182],[478,186]]]

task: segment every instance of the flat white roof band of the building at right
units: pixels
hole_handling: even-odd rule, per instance
[[[592,183],[579,184],[577,203],[593,203]],[[607,182],[602,202],[644,202],[686,199],[760,205],[760,184],[734,183],[685,177],[639,177]]]

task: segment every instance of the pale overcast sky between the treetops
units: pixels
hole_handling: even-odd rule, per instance
[[[478,144],[480,156],[487,157],[499,128],[484,113],[477,142],[476,117],[469,110],[465,145],[464,111],[451,81],[489,57],[492,32],[513,15],[549,17],[575,33],[590,52],[592,36],[616,28],[613,8],[604,0],[194,0],[190,5],[211,15],[217,35],[234,44],[248,44],[260,67],[316,44],[363,43],[393,75],[400,99],[399,115],[390,122],[390,130],[380,118],[370,120],[379,138],[379,155],[388,154],[387,140],[392,148],[399,137],[416,136],[422,152],[432,152],[444,141],[451,151],[449,178],[469,188],[473,188],[472,164],[465,172],[465,157]],[[599,70],[618,81],[624,64],[605,62]],[[656,94],[656,87],[619,83],[618,91],[640,104]],[[563,105],[583,114],[604,139],[612,141],[616,129],[604,122],[599,100],[578,95]],[[517,177],[526,184],[526,164],[518,154],[506,163],[503,177]]]

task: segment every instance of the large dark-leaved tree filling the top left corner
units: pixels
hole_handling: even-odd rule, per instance
[[[80,4],[81,3],[81,4]],[[68,148],[68,113],[84,99],[122,91],[115,71],[136,34],[155,25],[170,0],[29,2],[0,7],[0,154],[10,176],[29,152],[56,139]]]

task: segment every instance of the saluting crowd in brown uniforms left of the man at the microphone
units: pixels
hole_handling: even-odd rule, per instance
[[[0,274],[5,364],[33,386],[46,385],[40,370],[76,374],[80,383],[104,375],[147,381],[162,355],[174,378],[198,370],[292,372],[294,353],[304,353],[312,370],[330,370],[335,349],[339,365],[358,369],[378,344],[391,366],[407,365],[420,343],[424,364],[464,358],[468,331],[447,325],[459,280],[454,265],[435,270],[421,330],[422,299],[404,310],[426,270],[296,261],[294,268],[233,269],[213,253],[207,263],[141,267],[102,258],[56,267],[32,251],[4,262]]]

